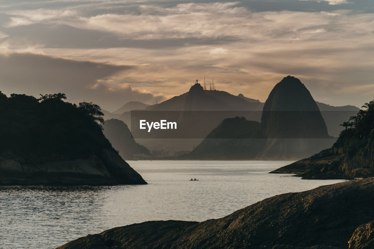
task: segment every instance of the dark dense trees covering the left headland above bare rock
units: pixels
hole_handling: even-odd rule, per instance
[[[113,150],[102,133],[98,105],[65,102],[65,94],[41,95],[0,92],[0,152],[29,158],[50,155],[82,157],[102,148]]]

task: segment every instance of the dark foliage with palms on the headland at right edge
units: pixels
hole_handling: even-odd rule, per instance
[[[365,110],[360,110],[348,122],[341,124],[346,129],[341,131],[334,144],[334,147],[343,148],[343,152],[349,156],[366,156],[373,148],[374,101],[365,103],[362,108]]]

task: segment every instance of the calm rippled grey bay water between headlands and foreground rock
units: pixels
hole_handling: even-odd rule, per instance
[[[150,220],[205,221],[276,194],[340,182],[268,174],[289,163],[129,161],[148,185],[0,187],[0,248],[55,248]]]

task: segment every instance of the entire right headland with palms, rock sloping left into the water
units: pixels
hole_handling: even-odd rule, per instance
[[[295,173],[305,179],[374,176],[374,101],[364,105],[345,126],[331,148],[271,173]]]

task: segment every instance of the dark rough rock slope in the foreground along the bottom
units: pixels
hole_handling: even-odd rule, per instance
[[[220,219],[148,221],[58,249],[373,248],[373,196],[374,178],[346,181],[273,196]]]

